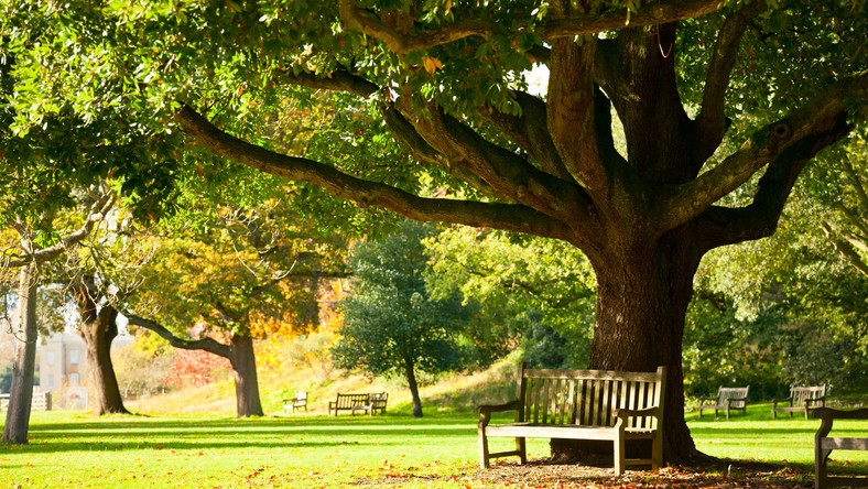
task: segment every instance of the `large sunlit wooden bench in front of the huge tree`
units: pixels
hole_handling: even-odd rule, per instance
[[[615,472],[628,465],[663,464],[663,392],[665,367],[657,372],[528,369],[519,365],[517,398],[500,405],[482,405],[479,465],[491,458],[518,456],[528,461],[524,438],[601,439],[614,443]],[[516,411],[516,422],[491,425],[491,413]],[[489,436],[516,438],[514,452],[489,453]],[[651,439],[651,458],[627,459],[627,439]]]

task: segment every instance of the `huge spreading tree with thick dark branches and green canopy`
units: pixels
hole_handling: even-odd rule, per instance
[[[669,368],[669,460],[696,453],[681,361],[702,257],[771,235],[802,170],[853,130],[868,91],[860,1],[211,7],[6,7],[12,130],[57,113],[51,99],[83,118],[122,106],[145,141],[182,148],[174,117],[216,154],[361,205],[575,246],[597,278],[589,367]],[[534,63],[549,67],[544,97],[525,91]],[[283,95],[308,97],[297,87],[358,97],[414,157],[377,169],[352,150],[285,155],[260,121]],[[735,149],[718,151],[725,139]],[[164,159],[158,173],[176,169]],[[431,192],[440,182],[448,191]],[[718,204],[739,188],[756,192]]]

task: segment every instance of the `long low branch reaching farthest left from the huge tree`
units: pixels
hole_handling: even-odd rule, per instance
[[[264,173],[319,185],[362,206],[381,206],[421,221],[491,227],[571,242],[574,239],[563,222],[525,206],[419,197],[389,185],[356,178],[313,160],[286,156],[250,144],[219,130],[188,106],[184,106],[175,119],[188,135],[216,154]]]

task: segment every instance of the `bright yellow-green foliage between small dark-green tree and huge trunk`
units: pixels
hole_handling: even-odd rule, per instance
[[[426,239],[435,296],[479,307],[468,334],[486,361],[522,347],[538,367],[587,365],[596,302],[590,264],[568,243],[455,226]]]

